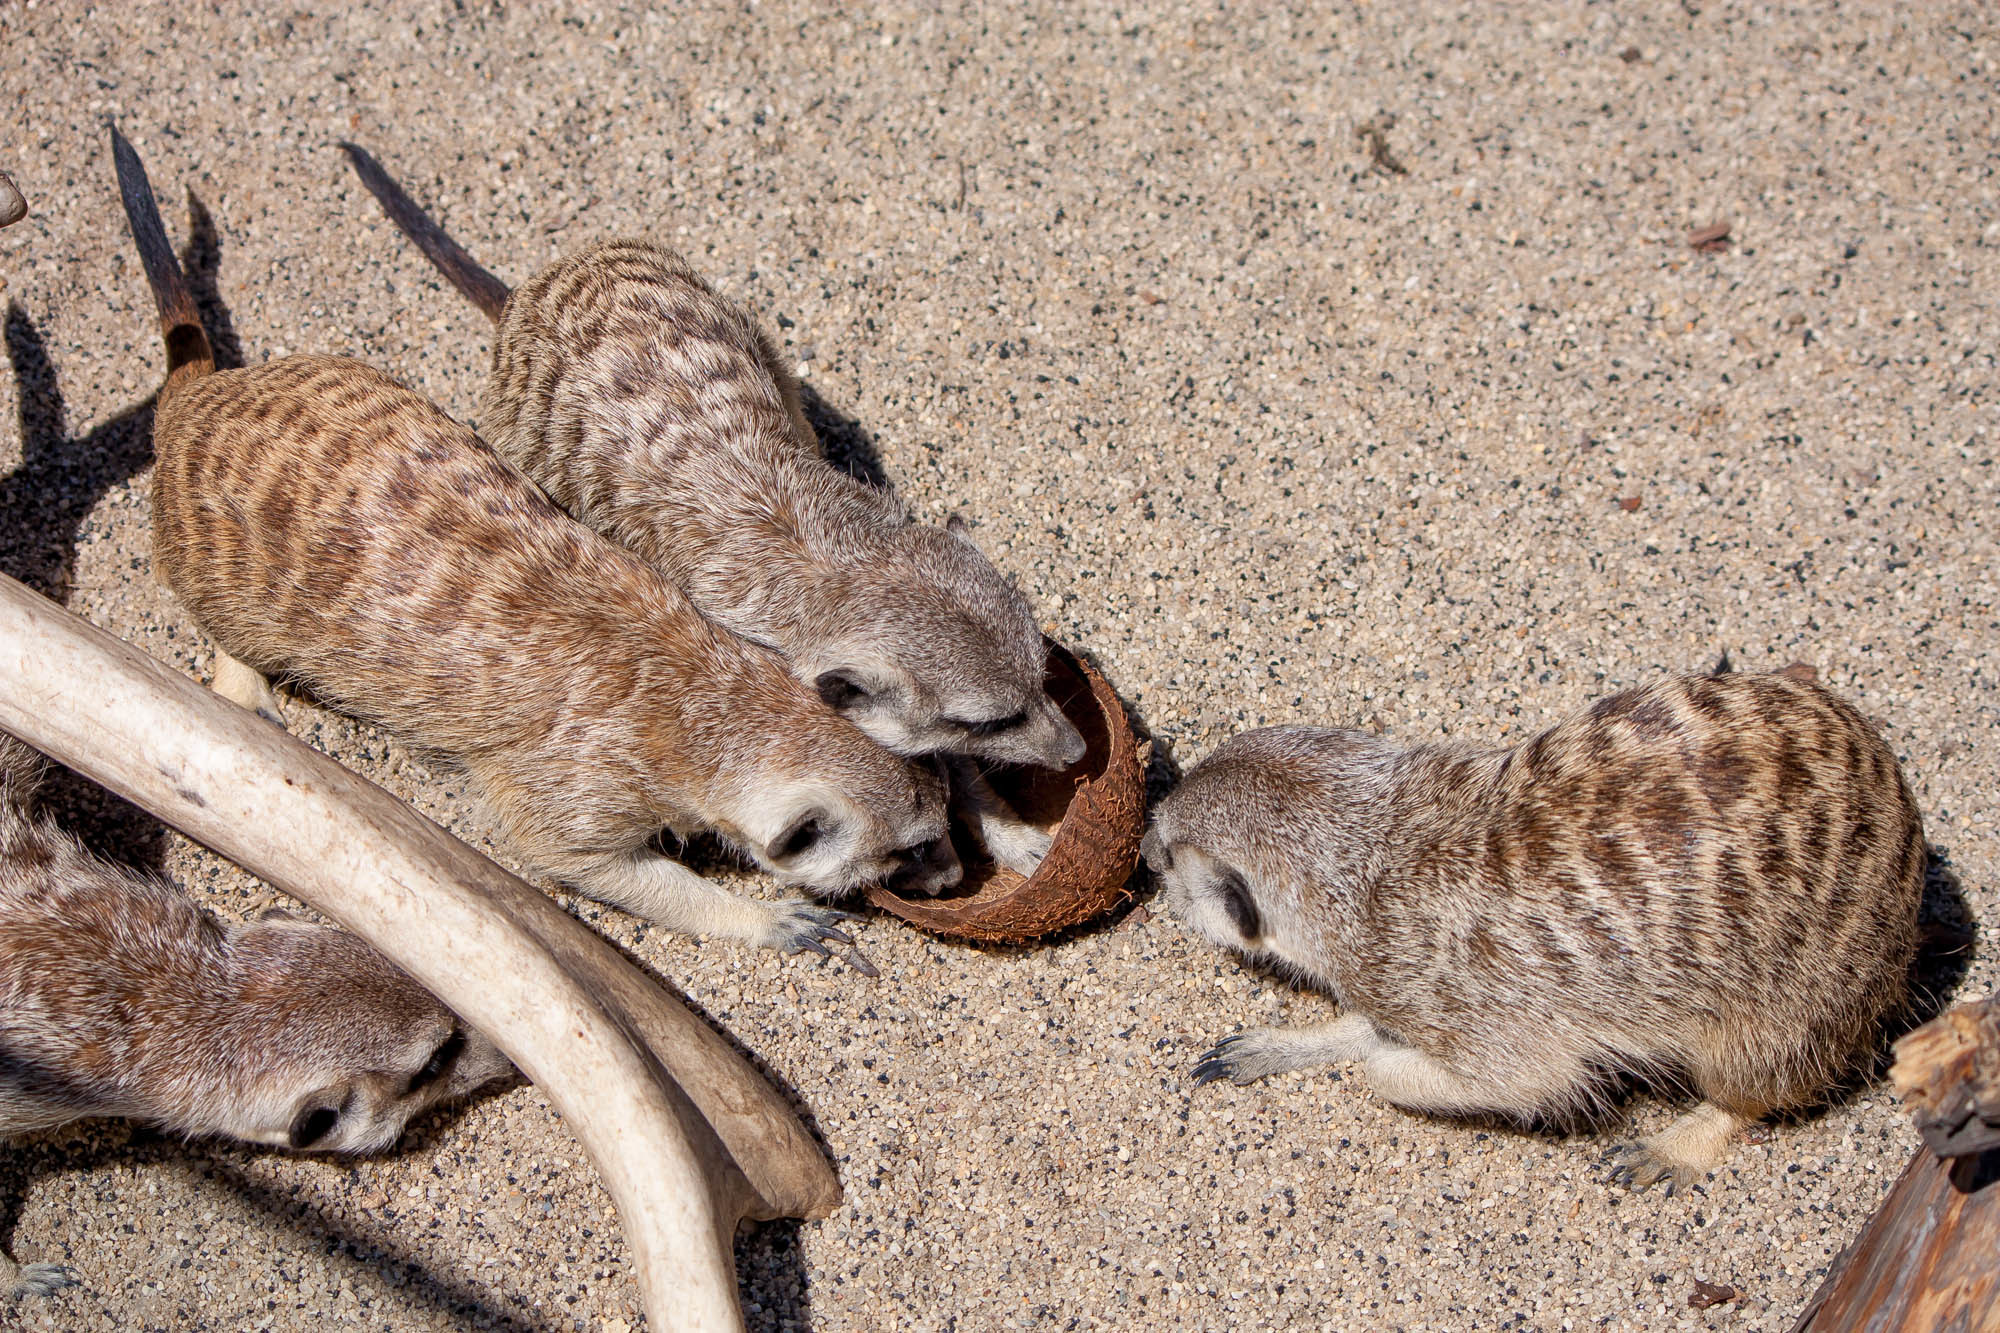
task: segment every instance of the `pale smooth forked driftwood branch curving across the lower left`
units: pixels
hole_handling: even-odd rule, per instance
[[[840,1187],[778,1093],[544,895],[382,789],[0,576],[0,729],[368,939],[548,1095],[656,1329],[740,1329],[730,1237]],[[692,1107],[690,1107],[692,1103]]]

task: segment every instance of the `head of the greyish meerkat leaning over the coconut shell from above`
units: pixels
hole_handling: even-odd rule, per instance
[[[894,568],[848,588],[846,624],[800,658],[836,713],[898,755],[1068,769],[1084,739],[1042,685],[1028,600],[962,524],[906,526]]]

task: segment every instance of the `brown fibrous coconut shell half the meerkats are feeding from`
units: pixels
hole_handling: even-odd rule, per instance
[[[938,935],[994,943],[1052,935],[1118,905],[1146,829],[1146,763],[1118,695],[1056,640],[1048,640],[1048,697],[1082,733],[1084,757],[1062,773],[990,775],[1022,819],[1056,839],[1036,873],[1022,879],[994,865],[970,835],[954,831],[964,883],[936,899],[878,885],[868,891],[870,903]]]

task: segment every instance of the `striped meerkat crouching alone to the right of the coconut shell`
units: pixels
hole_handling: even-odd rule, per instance
[[[1670,1193],[1866,1065],[1926,863],[1888,745],[1768,675],[1626,691],[1512,749],[1252,731],[1144,853],[1196,933],[1342,1007],[1226,1039],[1198,1083],[1358,1061],[1410,1111],[1560,1123],[1610,1075],[1662,1077],[1702,1103],[1614,1175]]]

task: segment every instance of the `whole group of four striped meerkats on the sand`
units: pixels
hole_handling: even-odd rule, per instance
[[[832,468],[762,326],[682,256],[608,240],[508,290],[346,146],[496,326],[474,432],[358,360],[218,370],[112,138],[166,348],[156,572],[218,693],[282,727],[272,681],[306,687],[466,773],[534,869],[676,931],[852,945],[662,831],[826,899],[950,889],[948,775],[988,853],[1034,869],[1048,835],[982,769],[1084,743],[1028,602],[960,528]],[[352,937],[226,929],[94,861],[26,813],[32,767],[0,737],[0,1133],[134,1115],[374,1151],[506,1073]],[[1224,1039],[1196,1083],[1354,1061],[1410,1111],[1562,1123],[1620,1075],[1680,1081],[1700,1105],[1616,1171],[1672,1191],[1864,1067],[1908,999],[1926,845],[1850,705],[1718,673],[1512,749],[1252,731],[1160,803],[1144,857],[1190,929],[1342,1009]]]

